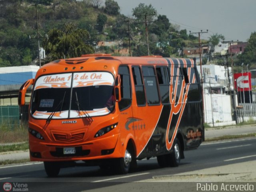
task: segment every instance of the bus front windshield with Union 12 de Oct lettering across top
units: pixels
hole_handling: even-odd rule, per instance
[[[80,72],[41,76],[31,103],[34,118],[102,116],[114,109],[114,77],[109,72]]]

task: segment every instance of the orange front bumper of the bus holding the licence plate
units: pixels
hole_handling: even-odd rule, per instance
[[[78,161],[122,157],[119,134],[76,144],[30,140],[31,161]]]

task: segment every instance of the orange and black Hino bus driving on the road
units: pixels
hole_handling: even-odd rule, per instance
[[[48,176],[77,161],[126,174],[137,160],[178,166],[204,140],[200,78],[194,60],[108,54],[60,59],[25,82],[30,160]]]

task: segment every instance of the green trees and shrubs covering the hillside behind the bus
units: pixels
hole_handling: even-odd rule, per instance
[[[120,13],[120,7],[114,0],[1,0],[0,67],[38,62],[36,10],[40,44],[46,53],[42,65],[56,58],[81,54],[128,55],[129,45],[132,56],[148,55],[145,17],[148,21],[149,54],[186,57],[182,56],[182,50],[198,43],[197,35],[180,29],[151,4],[138,4],[132,9],[132,16],[128,17]],[[222,34],[216,33],[208,40],[201,39],[201,43],[214,46],[224,39]],[[103,42],[111,42],[112,45],[104,46]],[[241,71],[242,62],[249,64],[249,69],[256,67],[255,42],[256,32],[252,32],[244,53],[233,57],[234,72]],[[226,65],[225,58],[218,54],[209,60]],[[207,58],[203,58],[203,64],[206,62]]]

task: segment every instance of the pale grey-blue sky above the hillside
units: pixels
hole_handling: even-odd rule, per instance
[[[200,37],[208,40],[222,34],[225,41],[246,42],[256,31],[256,0],[115,0],[121,14],[132,17],[140,3],[151,4],[157,14],[166,15],[172,24],[191,32],[206,31]],[[196,34],[194,34],[196,36]]]

